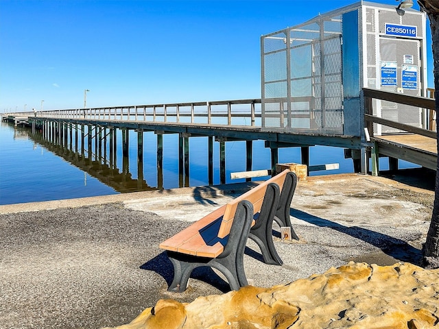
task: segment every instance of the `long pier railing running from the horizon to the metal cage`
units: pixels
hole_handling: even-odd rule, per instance
[[[261,118],[260,104],[261,99],[238,99],[231,101],[77,108],[38,111],[36,112],[36,117],[255,126],[260,125],[257,122],[257,119]],[[34,115],[32,112],[14,112],[13,114],[23,116]]]

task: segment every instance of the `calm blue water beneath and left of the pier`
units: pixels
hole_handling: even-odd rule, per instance
[[[102,170],[105,166],[101,163],[87,162],[88,167],[85,169],[82,165],[85,162],[78,161],[78,154],[46,143],[33,135],[28,128],[14,128],[10,123],[2,122],[0,125],[0,204],[117,194],[121,193],[118,186],[123,184],[128,188],[126,191],[136,191],[137,133],[130,131],[128,176],[120,174],[123,171],[120,132],[117,141],[117,170],[108,171],[108,175],[103,177],[102,173],[106,171]],[[147,184],[143,186],[143,189],[158,188],[156,143],[156,135],[153,132],[143,133],[143,180]],[[189,186],[209,184],[207,143],[206,137],[189,138]],[[227,183],[244,181],[230,180],[230,173],[246,171],[245,147],[245,142],[226,143]],[[219,143],[214,143],[213,152],[213,183],[219,184]],[[309,153],[311,165],[340,164],[340,169],[316,171],[312,175],[353,172],[352,160],[344,159],[343,149],[311,147]],[[300,148],[279,149],[278,160],[279,162],[300,163]],[[264,141],[254,141],[252,165],[253,170],[270,169],[270,149],[264,147]],[[381,163],[380,169],[385,169],[385,165],[385,162]],[[410,167],[410,165],[405,166]],[[93,177],[93,173],[97,171],[100,175],[97,175],[97,178]],[[261,178],[257,179],[261,180]],[[112,183],[108,184],[109,181]],[[178,188],[181,187],[180,184],[178,135],[165,134],[163,135],[163,188]]]

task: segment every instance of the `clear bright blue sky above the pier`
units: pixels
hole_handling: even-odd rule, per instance
[[[261,98],[261,35],[355,2],[0,0],[0,111]]]

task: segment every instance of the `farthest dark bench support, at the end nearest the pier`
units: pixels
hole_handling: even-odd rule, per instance
[[[292,239],[300,240],[296,232],[294,232],[293,226],[291,225],[291,220],[289,219],[290,206],[294,191],[296,191],[296,186],[297,176],[295,173],[290,171],[285,177],[285,182],[283,182],[281,197],[279,199],[276,215],[274,216],[274,221],[278,223],[278,226],[291,228]]]

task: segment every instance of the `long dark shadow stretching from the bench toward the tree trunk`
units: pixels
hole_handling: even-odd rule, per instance
[[[308,223],[312,223],[322,228],[331,228],[338,232],[353,236],[354,238],[366,243],[370,243],[370,245],[378,247],[382,252],[388,254],[388,256],[396,258],[401,262],[420,265],[420,261],[422,260],[422,251],[420,249],[413,247],[406,241],[394,238],[393,236],[368,230],[367,228],[360,228],[359,226],[343,226],[339,223],[329,221],[328,219],[311,215],[302,210],[291,209],[289,214],[302,221],[307,221]]]

